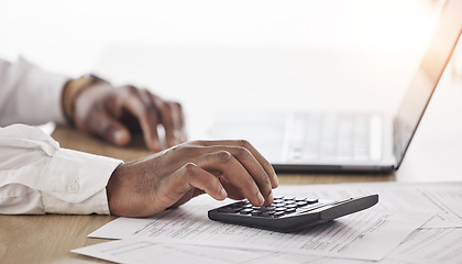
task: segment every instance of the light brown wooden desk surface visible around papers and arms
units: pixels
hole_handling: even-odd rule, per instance
[[[76,132],[57,128],[53,133],[63,147],[132,161],[151,153],[135,142],[130,148],[114,147]],[[391,182],[395,175],[279,174],[282,185]],[[112,216],[0,216],[1,263],[107,263],[70,250],[101,243],[87,234],[116,219]]]

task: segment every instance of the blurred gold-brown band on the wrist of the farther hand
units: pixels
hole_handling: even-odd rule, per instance
[[[63,111],[67,120],[72,123],[74,120],[74,101],[77,96],[86,88],[99,81],[105,81],[95,75],[86,75],[78,79],[67,81],[63,90]]]

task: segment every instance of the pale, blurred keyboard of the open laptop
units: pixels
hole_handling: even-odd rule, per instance
[[[305,160],[380,160],[382,151],[371,141],[382,131],[380,117],[366,114],[296,114],[289,124],[286,157]]]

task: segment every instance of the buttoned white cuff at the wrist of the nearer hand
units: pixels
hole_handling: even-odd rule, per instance
[[[106,186],[121,163],[120,160],[59,148],[41,187],[45,211],[109,215]]]

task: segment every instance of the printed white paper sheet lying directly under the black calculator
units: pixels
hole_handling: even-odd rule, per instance
[[[305,189],[308,189],[307,186]],[[282,188],[277,195],[297,196],[294,194],[295,190],[300,189]],[[329,188],[326,190],[329,191]],[[371,208],[304,231],[279,233],[208,219],[209,209],[227,202],[230,201],[218,202],[208,196],[202,196],[178,209],[166,210],[152,218],[119,218],[95,231],[90,237],[106,239],[140,237],[158,243],[188,243],[377,261],[386,256],[432,216],[428,212]]]

